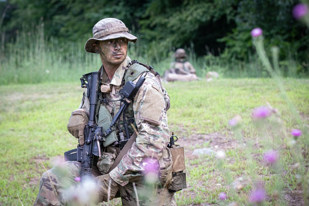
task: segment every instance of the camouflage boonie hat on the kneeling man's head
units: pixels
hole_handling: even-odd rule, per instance
[[[135,43],[137,37],[129,34],[129,29],[125,27],[125,24],[119,19],[106,18],[102,19],[92,29],[93,37],[88,39],[85,44],[85,51],[89,53],[95,53],[92,44],[96,41],[116,39],[125,37],[128,41]]]

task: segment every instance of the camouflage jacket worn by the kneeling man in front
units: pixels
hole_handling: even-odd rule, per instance
[[[106,98],[110,100],[120,99],[119,90],[122,88],[122,77],[130,61],[130,58],[127,56],[116,69],[110,81],[112,91],[105,93]],[[107,79],[104,69],[102,69],[101,77],[102,82]],[[137,81],[138,78],[133,82],[136,83]],[[166,166],[172,162],[169,149],[167,148],[169,129],[167,126],[164,94],[158,80],[152,73],[147,72],[146,80],[132,102],[127,109],[126,119],[134,118],[134,125],[138,131],[138,137],[118,166],[109,173],[112,179],[121,186],[142,179],[142,176],[147,172],[146,165],[149,161],[162,162],[164,158]],[[119,111],[121,106],[120,101],[110,101],[109,106],[105,103],[103,104],[109,109],[112,116]],[[89,100],[85,95],[83,95],[79,108],[83,108],[89,112]],[[122,115],[120,124],[123,124]],[[121,125],[122,127],[123,125]]]

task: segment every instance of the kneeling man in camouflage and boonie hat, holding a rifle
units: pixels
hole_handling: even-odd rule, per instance
[[[99,69],[102,81],[99,97],[106,101],[97,105],[98,125],[119,111],[119,90],[124,83],[128,80],[136,83],[146,72],[146,80],[128,106],[125,120],[121,115],[116,124],[117,138],[124,132],[124,121],[129,125],[132,123],[129,133],[132,135],[134,129],[138,131],[136,142],[109,173],[120,151],[114,144],[104,147],[102,156],[92,166],[95,192],[91,194],[87,194],[91,187],[82,193],[72,194],[72,190],[78,187],[80,162],[67,161],[46,171],[40,180],[35,206],[98,204],[115,197],[121,197],[122,205],[176,205],[174,193],[167,189],[171,182],[172,165],[171,153],[167,148],[169,129],[166,111],[169,108],[169,97],[155,75],[146,67],[133,64],[127,56],[128,41],[137,41],[137,37],[128,31],[118,19],[102,19],[93,27],[93,38],[86,42],[85,51],[99,54],[102,61]],[[126,71],[133,65],[134,70],[131,70],[128,77]],[[83,130],[88,116],[89,100],[84,92],[79,108],[72,112],[67,125],[69,132],[79,139],[80,145],[84,144]],[[159,173],[159,170],[165,172]]]

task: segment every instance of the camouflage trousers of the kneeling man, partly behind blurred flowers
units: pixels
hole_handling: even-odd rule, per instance
[[[101,175],[93,164],[92,177]],[[40,180],[39,193],[34,206],[60,206],[60,205],[91,205],[91,187],[80,189],[78,177],[81,163],[76,161],[64,162],[60,166],[44,172]],[[76,179],[77,178],[77,179]],[[125,206],[176,206],[174,193],[167,188],[158,187],[156,183],[146,183],[139,180],[120,186],[116,197],[121,197]]]

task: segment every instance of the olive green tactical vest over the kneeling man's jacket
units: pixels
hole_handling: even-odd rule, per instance
[[[125,82],[128,81],[134,81],[136,80],[140,74],[142,74],[142,72],[151,72],[153,74],[158,75],[159,73],[155,72],[152,67],[149,67],[148,65],[143,65],[141,63],[139,63],[136,60],[131,61],[124,73],[124,76],[122,78],[122,83],[121,86],[124,86]],[[159,78],[159,76],[157,77]],[[159,81],[159,84],[161,85],[161,82]],[[163,90],[163,87],[162,87]],[[111,113],[108,111],[108,109],[105,107],[104,102],[100,101],[100,99],[103,99],[103,94],[102,92],[99,93],[99,100],[98,100],[98,104],[96,107],[96,123],[98,126],[103,127],[103,131],[106,131],[109,127],[110,124],[112,122],[112,115]],[[114,108],[114,111],[119,111],[120,108]],[[114,114],[115,116],[116,114]],[[123,132],[125,132],[125,128],[123,126],[123,120],[122,120],[122,114],[121,114],[121,118],[119,120],[120,122],[120,126]],[[134,133],[134,128],[137,128],[137,125],[135,123],[135,118],[134,118],[134,111],[133,111],[133,100],[131,101],[131,103],[129,104],[129,106],[126,109],[126,113],[125,113],[125,120],[128,124],[128,128],[129,128],[129,133],[130,136]],[[132,127],[132,125],[134,125],[134,128]],[[106,136],[106,140],[103,142],[103,146],[106,147],[108,145],[111,145],[112,143],[114,143],[115,141],[118,141],[118,122],[111,128],[112,132],[110,132],[107,136]]]

